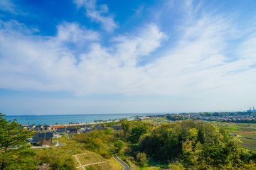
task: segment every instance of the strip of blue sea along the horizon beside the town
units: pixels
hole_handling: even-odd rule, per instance
[[[97,114],[97,115],[5,115],[6,120],[14,120],[22,125],[70,125],[78,123],[94,123],[95,120],[134,119],[136,116],[160,115],[164,113],[129,113],[129,114]]]

